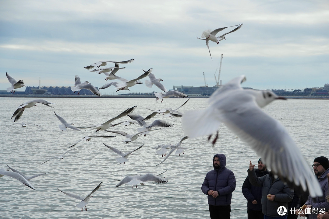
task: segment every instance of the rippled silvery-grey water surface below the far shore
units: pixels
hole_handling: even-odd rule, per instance
[[[51,157],[63,154],[68,147],[87,135],[114,135],[105,131],[83,132],[72,129],[63,132],[60,121],[54,111],[67,122],[75,126],[88,126],[103,123],[129,107],[137,105],[134,113],[146,117],[151,113],[146,108],[158,110],[165,107],[177,108],[186,99],[164,99],[156,103],[154,99],[128,98],[45,98],[55,103],[55,109],[37,104],[28,108],[19,121],[33,122],[40,127],[29,125],[22,128],[12,125],[10,119],[17,106],[31,98],[0,98],[0,168],[6,164],[26,175],[49,173],[34,178],[31,184],[36,190],[24,186],[17,180],[4,176],[0,178],[0,211],[3,218],[209,218],[207,197],[201,192],[204,177],[212,167],[214,154],[226,155],[226,167],[231,169],[237,179],[233,192],[231,218],[246,218],[246,199],[241,192],[242,183],[247,176],[249,160],[257,163],[259,156],[249,146],[241,142],[224,125],[219,127],[219,138],[213,147],[206,137],[185,140],[185,154],[174,153],[162,164],[156,166],[163,157],[156,154],[158,144],[177,143],[184,132],[181,118],[157,115],[153,119],[162,119],[174,124],[174,127],[162,128],[141,136],[136,141],[125,144],[125,137],[92,138],[89,142],[80,142],[81,146],[65,154],[63,160],[53,159],[40,165]],[[207,99],[190,99],[179,109],[203,109],[208,106]],[[274,101],[264,110],[279,120],[290,132],[292,138],[305,156],[313,164],[317,156],[328,157],[329,143],[329,100]],[[130,120],[128,117],[119,121]],[[149,120],[152,122],[153,120]],[[9,127],[7,127],[9,126]],[[137,132],[137,125],[111,127],[129,134]],[[104,143],[123,152],[131,151],[141,144],[145,146],[133,155],[125,164],[118,164],[118,157]],[[287,167],[289,168],[289,167]],[[148,172],[164,176],[168,183],[146,183],[132,188],[129,185],[115,187],[115,179],[126,175]],[[80,201],[60,191],[87,196],[100,182],[103,186],[93,194],[87,205],[88,211],[81,212],[75,207]]]

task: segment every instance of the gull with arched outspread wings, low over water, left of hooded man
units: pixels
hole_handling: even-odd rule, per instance
[[[121,180],[120,183],[116,184],[115,187],[119,187],[123,184],[128,184],[128,185],[132,185],[133,188],[136,185],[137,188],[137,184],[139,183],[143,183],[143,182],[149,182],[149,181],[153,181],[153,182],[157,182],[157,183],[166,183],[168,182],[167,180],[154,175],[153,173],[146,173],[144,175],[135,175],[135,176],[125,176],[125,178],[123,178],[123,180]]]

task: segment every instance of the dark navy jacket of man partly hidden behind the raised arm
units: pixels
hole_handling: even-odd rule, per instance
[[[265,175],[269,174],[269,171],[267,169],[265,171],[260,171],[259,169],[255,169],[255,172],[256,172],[257,177],[261,177],[261,176],[265,176]],[[261,199],[262,199],[262,194],[263,194],[262,188],[251,185],[251,183],[249,182],[249,176],[247,176],[243,182],[241,190],[242,190],[243,196],[248,201],[247,208],[250,208],[255,211],[261,211],[262,210]],[[254,200],[257,201],[256,205],[252,204],[252,201],[254,201]]]

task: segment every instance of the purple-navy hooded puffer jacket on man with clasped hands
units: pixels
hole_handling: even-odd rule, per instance
[[[216,169],[214,166],[214,159],[219,159],[220,165]],[[208,204],[215,206],[228,206],[231,205],[232,192],[235,190],[236,180],[234,173],[226,167],[226,157],[224,154],[216,154],[213,158],[214,169],[209,171],[203,181],[201,190],[204,194],[208,195],[209,190],[217,191],[218,196],[213,198],[208,195]]]

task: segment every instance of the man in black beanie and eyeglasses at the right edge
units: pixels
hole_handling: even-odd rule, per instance
[[[316,198],[312,198],[311,196],[308,197],[308,200],[305,203],[306,208],[302,211],[301,214],[299,214],[300,216],[305,216],[305,213],[311,212],[306,214],[308,219],[316,219],[319,211],[328,211],[329,209],[329,202],[325,199],[325,197],[329,194],[327,180],[327,174],[329,173],[328,158],[324,156],[317,157],[314,159],[312,167],[314,174],[317,176],[317,180],[321,186],[323,196]],[[297,211],[296,214],[298,214]]]

